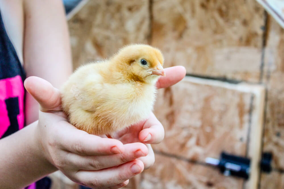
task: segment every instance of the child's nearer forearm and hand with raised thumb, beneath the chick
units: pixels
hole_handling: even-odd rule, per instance
[[[144,144],[89,135],[67,122],[50,83],[29,77],[25,87],[40,103],[39,120],[0,140],[0,188],[23,188],[57,169],[85,186],[120,188],[143,171],[136,158],[148,154]]]

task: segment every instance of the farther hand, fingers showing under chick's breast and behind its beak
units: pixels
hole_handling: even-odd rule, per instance
[[[173,66],[165,68],[165,74],[166,77],[159,77],[159,80],[156,83],[158,89],[170,87],[181,81],[185,77],[186,70],[183,66]],[[148,119],[115,133],[113,137],[123,142],[123,144],[133,142],[142,142],[146,144],[149,152],[148,155],[138,159],[143,161],[144,169],[148,169],[155,161],[154,152],[150,144],[160,143],[163,140],[164,135],[163,125],[156,116],[151,113]]]

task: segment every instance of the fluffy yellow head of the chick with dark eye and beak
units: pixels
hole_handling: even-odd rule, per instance
[[[155,83],[160,75],[165,76],[163,54],[150,45],[128,45],[114,58],[128,80]]]

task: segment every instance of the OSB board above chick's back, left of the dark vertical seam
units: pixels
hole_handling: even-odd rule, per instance
[[[69,21],[74,68],[101,60],[129,43],[147,43],[148,0],[91,0]]]

